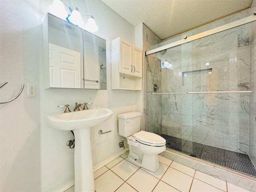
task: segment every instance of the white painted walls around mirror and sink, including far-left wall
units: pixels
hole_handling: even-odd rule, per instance
[[[121,36],[134,43],[134,26],[101,1],[65,1],[77,6],[81,14],[93,15],[106,40],[108,90],[44,89],[42,22],[51,0],[0,1],[1,68],[0,100],[14,96],[22,83],[36,84],[36,97],[21,96],[0,105],[1,182],[0,191],[54,191],[74,180],[74,149],[66,146],[71,132],[56,130],[48,124],[46,114],[64,111],[58,105],[93,102],[88,107],[104,107],[113,111],[107,122],[92,128],[94,166],[120,152],[118,143],[119,113],[141,108],[136,91],[111,90],[111,40]],[[139,107],[136,105],[140,105]],[[99,135],[98,130],[112,130]]]

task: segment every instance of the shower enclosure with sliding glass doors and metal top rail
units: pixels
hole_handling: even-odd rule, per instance
[[[256,16],[250,17],[146,52],[146,129],[170,150],[256,177]]]

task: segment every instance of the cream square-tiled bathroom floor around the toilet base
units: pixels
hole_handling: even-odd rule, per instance
[[[162,156],[160,168],[150,172],[132,164],[127,154],[94,172],[96,192],[249,192]],[[65,192],[74,192],[74,186]]]

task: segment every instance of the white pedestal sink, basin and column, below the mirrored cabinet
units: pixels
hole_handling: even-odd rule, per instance
[[[106,108],[92,108],[70,113],[48,114],[50,125],[59,130],[73,130],[75,135],[75,192],[94,192],[90,129],[112,116]]]

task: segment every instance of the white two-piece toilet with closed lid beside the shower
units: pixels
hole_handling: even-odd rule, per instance
[[[118,132],[127,139],[128,158],[138,166],[156,172],[158,154],[166,149],[166,140],[157,134],[140,131],[140,116],[140,112],[119,114]]]

